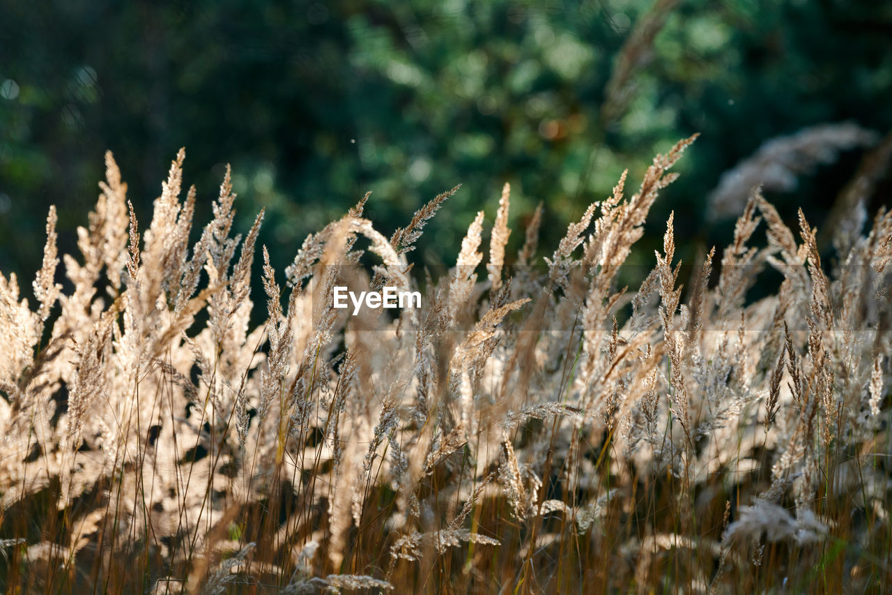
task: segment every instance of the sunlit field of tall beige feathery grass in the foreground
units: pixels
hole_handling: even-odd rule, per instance
[[[5,591],[888,592],[892,213],[847,205],[822,261],[739,188],[728,246],[682,285],[670,218],[625,287],[692,141],[557,247],[537,211],[507,254],[506,185],[438,278],[412,249],[451,191],[390,239],[363,198],[282,272],[228,172],[193,230],[181,152],[146,226],[108,155],[80,254],[51,211],[36,299],[0,276]]]

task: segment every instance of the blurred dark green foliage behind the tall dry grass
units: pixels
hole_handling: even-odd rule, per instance
[[[232,163],[240,227],[266,207],[278,267],[366,190],[390,232],[460,182],[415,256],[450,264],[505,181],[509,247],[539,201],[553,247],[624,167],[633,189],[657,151],[699,131],[648,223],[650,264],[670,210],[681,258],[726,243],[730,223],[705,229],[706,193],[764,140],[818,122],[892,128],[892,4],[867,0],[679,2],[604,118],[616,57],[653,5],[0,0],[0,270],[30,279],[52,203],[71,249],[106,149],[144,224],[178,147],[199,224]],[[857,158],[781,206],[820,222]]]

